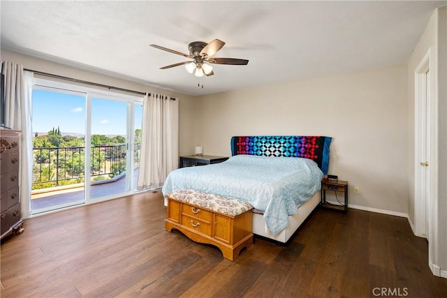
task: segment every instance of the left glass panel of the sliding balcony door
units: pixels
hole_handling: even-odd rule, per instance
[[[34,88],[32,210],[85,203],[85,107],[85,93]]]

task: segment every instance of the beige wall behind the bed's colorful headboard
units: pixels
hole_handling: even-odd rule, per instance
[[[229,156],[233,135],[328,135],[350,204],[408,211],[405,65],[202,96],[196,109],[204,154]]]

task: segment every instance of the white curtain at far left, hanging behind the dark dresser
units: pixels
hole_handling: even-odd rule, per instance
[[[20,148],[20,205],[22,218],[29,217],[33,152],[31,132],[31,95],[34,75],[21,64],[1,61],[5,75],[5,126],[22,131]]]

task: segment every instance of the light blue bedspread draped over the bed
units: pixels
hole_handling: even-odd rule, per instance
[[[223,163],[173,170],[162,191],[191,188],[245,200],[264,211],[267,228],[277,234],[288,225],[288,215],[315,195],[321,179],[323,172],[307,158],[237,155]]]

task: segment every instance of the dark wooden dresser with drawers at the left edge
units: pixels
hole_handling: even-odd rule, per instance
[[[0,130],[1,239],[23,232],[20,215],[20,131]]]

